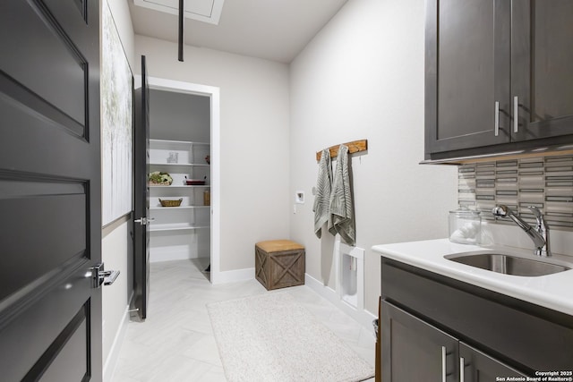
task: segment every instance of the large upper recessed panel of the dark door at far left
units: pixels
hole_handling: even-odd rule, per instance
[[[83,125],[88,65],[78,47],[43,4],[13,2],[6,13],[0,33],[10,38],[2,38],[0,50],[10,55],[0,55],[0,67],[38,98]],[[22,21],[26,28],[19,28]],[[30,41],[33,49],[28,48]]]

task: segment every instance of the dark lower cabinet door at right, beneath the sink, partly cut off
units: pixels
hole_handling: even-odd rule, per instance
[[[459,357],[460,363],[464,363],[463,370],[460,367],[460,381],[489,382],[497,380],[496,377],[526,377],[526,374],[462,342],[459,343]]]

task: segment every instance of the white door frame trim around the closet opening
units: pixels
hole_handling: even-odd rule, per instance
[[[140,81],[141,82],[141,81]],[[210,138],[211,138],[211,234],[210,261],[211,284],[219,284],[220,278],[220,98],[219,88],[191,82],[174,81],[148,77],[150,89],[167,90],[176,93],[194,94],[210,98]]]

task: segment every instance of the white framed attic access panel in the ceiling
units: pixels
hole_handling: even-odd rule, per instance
[[[218,25],[225,0],[186,0],[184,15],[188,19]],[[133,4],[159,12],[179,14],[178,0],[133,0]]]

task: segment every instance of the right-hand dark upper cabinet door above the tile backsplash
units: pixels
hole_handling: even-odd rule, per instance
[[[573,1],[512,3],[513,140],[573,134]]]

